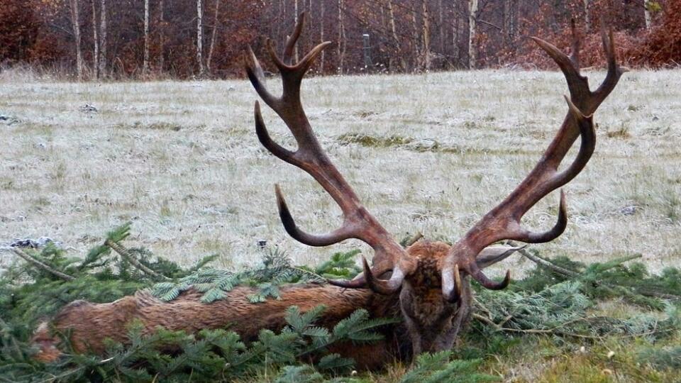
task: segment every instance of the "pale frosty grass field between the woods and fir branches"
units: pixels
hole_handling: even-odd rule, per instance
[[[592,86],[603,76],[589,73]],[[566,91],[558,72],[495,70],[318,77],[303,89],[321,143],[384,226],[397,238],[446,240],[531,170],[563,120]],[[338,225],[340,209],[260,147],[256,98],[236,80],[70,84],[0,74],[0,245],[48,236],[79,256],[132,221],[128,244],[186,263],[214,252],[218,266],[254,262],[258,240],[298,263],[367,249],[311,249],[284,232],[275,182],[308,231]],[[274,113],[265,118],[291,145]],[[565,188],[567,231],[535,248],[586,262],[641,253],[651,270],[681,265],[681,72],[625,74],[595,121],[594,157]],[[554,192],[526,225],[552,226],[557,205]],[[0,252],[0,262],[11,256]]]

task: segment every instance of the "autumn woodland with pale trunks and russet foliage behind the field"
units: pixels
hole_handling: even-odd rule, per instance
[[[674,65],[681,55],[681,0],[3,0],[0,68],[14,65],[99,78],[223,78],[243,75],[250,45],[281,47],[301,12],[306,52],[333,45],[323,74],[543,67],[528,43],[569,45],[570,22],[587,46],[604,23],[624,61]],[[671,28],[671,29],[670,29]],[[666,46],[670,45],[670,46]],[[665,45],[665,46],[662,46]],[[661,48],[660,48],[661,47]],[[668,50],[660,55],[661,50]],[[599,50],[587,57],[599,65]],[[294,53],[299,55],[298,50]],[[587,56],[589,53],[587,52]],[[584,61],[584,57],[582,57]]]

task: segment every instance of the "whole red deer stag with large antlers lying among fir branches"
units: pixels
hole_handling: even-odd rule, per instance
[[[303,27],[303,17],[288,39],[284,55],[275,53],[267,40],[267,50],[279,69],[283,82],[282,96],[277,97],[265,87],[265,77],[253,51],[249,50],[246,63],[248,78],[265,104],[286,123],[298,148],[287,150],[275,143],[267,133],[255,102],[255,131],[260,143],[273,155],[308,172],[331,194],[343,211],[343,225],[331,233],[316,235],[302,231],[294,222],[277,185],[275,192],[279,216],[286,231],[301,243],[328,246],[348,238],[364,241],[374,250],[373,265],[362,260],[364,272],[353,280],[331,280],[329,284],[292,285],[282,289],[281,300],[264,304],[249,304],[245,298],[253,292],[238,287],[226,299],[212,304],[201,304],[201,294],[189,290],[170,302],[162,302],[148,293],[119,299],[111,304],[90,304],[77,301],[62,310],[52,325],[61,330],[70,328],[72,345],[77,351],[103,350],[102,340],[112,338],[126,342],[126,323],[140,320],[146,331],[156,326],[171,330],[195,332],[201,328],[229,328],[245,339],[252,339],[261,328],[284,326],[284,311],[288,306],[299,306],[302,311],[318,304],[326,304],[321,326],[345,318],[355,309],[364,308],[372,316],[402,316],[402,323],[384,330],[383,343],[375,345],[343,345],[336,352],[356,358],[361,367],[380,367],[394,358],[408,359],[426,351],[446,350],[453,346],[459,331],[465,326],[470,311],[472,294],[470,279],[487,289],[504,289],[509,284],[510,272],[502,282],[489,279],[482,272],[485,267],[508,257],[518,248],[490,246],[501,240],[524,243],[545,243],[557,238],[567,226],[565,194],[560,194],[558,223],[549,231],[534,233],[520,225],[523,215],[540,199],[570,182],[585,167],[594,151],[595,133],[592,114],[617,84],[624,69],[615,60],[612,33],[603,33],[603,46],[608,59],[607,77],[601,86],[589,90],[587,78],[580,74],[578,40],[573,36],[572,56],[539,38],[533,40],[555,60],[565,74],[570,97],[567,116],[536,167],[498,206],[454,245],[423,240],[402,248],[360,203],[357,194],[323,152],[311,129],[300,100],[300,86],[304,74],[319,53],[329,43],[321,43],[299,62],[292,62],[292,52]],[[573,30],[573,34],[575,31]],[[581,138],[575,160],[565,170],[558,165],[572,144]],[[53,360],[59,352],[48,326],[35,335],[40,343],[43,360]]]

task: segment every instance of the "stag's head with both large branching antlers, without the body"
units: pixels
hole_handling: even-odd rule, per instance
[[[273,155],[308,172],[331,195],[343,211],[343,225],[323,235],[302,231],[295,223],[279,185],[275,194],[279,216],[287,233],[310,246],[328,246],[348,238],[356,238],[374,250],[373,265],[362,259],[364,272],[353,280],[330,280],[329,283],[348,289],[371,289],[375,294],[399,294],[399,305],[404,316],[412,350],[437,351],[451,348],[456,335],[470,311],[469,281],[475,279],[487,289],[504,289],[511,274],[506,272],[502,282],[489,279],[482,271],[511,255],[519,248],[491,246],[502,240],[524,243],[546,243],[558,238],[567,226],[565,194],[560,192],[558,222],[543,233],[528,231],[521,226],[521,218],[540,199],[562,187],[579,174],[594,152],[595,132],[592,115],[614,89],[625,71],[615,60],[612,33],[602,32],[603,46],[608,59],[607,77],[601,86],[591,91],[587,78],[579,70],[579,40],[572,24],[572,55],[568,57],[555,46],[540,38],[533,40],[558,64],[565,74],[570,96],[567,116],[543,157],[528,176],[509,196],[468,231],[463,238],[447,245],[423,241],[402,248],[360,203],[357,194],[323,152],[300,100],[300,85],[304,74],[329,42],[313,48],[299,62],[292,62],[294,45],[301,33],[304,14],[287,40],[284,54],[279,57],[271,40],[267,51],[282,77],[283,92],[275,96],[265,86],[265,76],[253,50],[248,50],[246,72],[255,91],[270,106],[294,135],[297,150],[292,151],[275,143],[267,133],[255,102],[255,131],[260,143]],[[575,160],[558,170],[565,154],[580,137],[580,150]]]

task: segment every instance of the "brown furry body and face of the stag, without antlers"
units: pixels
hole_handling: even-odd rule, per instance
[[[418,261],[419,272],[406,279],[402,293],[389,296],[375,294],[370,289],[297,284],[282,287],[282,299],[269,299],[261,304],[248,302],[247,296],[254,292],[250,287],[236,287],[225,299],[211,304],[201,303],[202,293],[193,289],[170,302],[160,301],[145,290],[109,304],[74,301],[52,319],[50,326],[43,323],[38,328],[33,337],[40,347],[36,358],[49,362],[60,355],[55,348],[59,338],[51,333],[50,328],[70,331],[72,346],[79,353],[104,352],[106,338],[127,343],[126,326],[133,320],[143,323],[144,333],[152,333],[158,326],[188,333],[196,333],[203,328],[228,328],[248,341],[255,339],[262,328],[276,331],[284,327],[284,315],[289,306],[308,311],[324,304],[327,309],[319,325],[327,328],[332,328],[360,308],[366,309],[375,318],[399,317],[401,312],[404,314],[404,323],[382,329],[386,338],[380,343],[348,343],[333,347],[333,352],[355,357],[359,367],[376,369],[395,359],[408,359],[412,343],[415,352],[434,350],[436,343],[443,343],[441,333],[453,340],[465,323],[470,300],[462,299],[460,304],[448,304],[443,300],[440,290],[438,270],[441,258],[448,249],[449,246],[444,243],[428,241],[411,246],[408,252]],[[467,291],[467,294],[470,295],[470,292]],[[404,302],[409,302],[406,309]],[[445,340],[444,343],[448,342]]]

